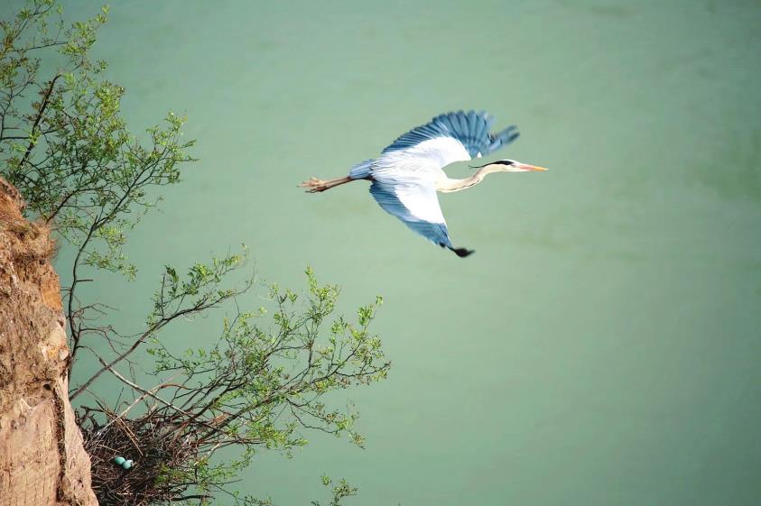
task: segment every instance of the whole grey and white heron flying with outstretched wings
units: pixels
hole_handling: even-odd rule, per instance
[[[489,133],[493,122],[494,118],[483,111],[438,115],[430,123],[404,133],[375,160],[357,163],[348,176],[328,180],[311,178],[299,186],[317,193],[357,179],[368,179],[372,181],[370,193],[387,213],[433,244],[465,257],[473,250],[452,245],[436,192],[470,188],[492,172],[546,170],[520,161],[499,160],[472,167],[478,170],[469,178],[447,177],[443,167],[455,161],[481,158],[512,143],[518,136],[515,125]]]

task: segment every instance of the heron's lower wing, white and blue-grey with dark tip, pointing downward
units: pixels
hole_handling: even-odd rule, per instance
[[[431,185],[416,182],[391,185],[373,181],[370,193],[387,213],[402,220],[404,225],[433,244],[449,248],[459,256],[472,253],[452,246],[447,223],[441,214],[439,198]]]

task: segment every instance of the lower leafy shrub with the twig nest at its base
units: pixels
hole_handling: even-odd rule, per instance
[[[214,293],[216,286],[200,287],[229,266],[219,261],[201,269],[197,266],[184,280],[167,268],[162,288],[153,295],[148,327],[163,321],[166,313],[176,314],[182,299],[190,299],[194,307],[195,300]],[[147,351],[155,357],[156,381],[151,388],[116,371],[116,359],[101,361],[100,372],[115,374],[134,395],[119,413],[104,403],[85,409],[85,440],[98,497],[116,504],[129,504],[125,498],[135,496],[153,502],[204,502],[214,492],[226,492],[258,449],[290,455],[292,449],[305,445],[305,429],[348,434],[362,446],[364,438],[354,428],[357,412],[351,405],[330,408],[324,398],[329,391],[385,378],[389,363],[380,340],[369,332],[381,301],[359,308],[356,322],[344,317],[329,321],[338,287],[320,285],[309,269],[306,274],[309,292],[304,296],[270,287],[271,323],[266,323],[270,321],[266,308],[238,311],[235,317],[224,319],[216,343],[209,348],[177,354],[156,336],[141,336],[149,341]],[[328,322],[326,332],[323,327]],[[126,419],[135,406],[143,411]],[[137,445],[143,454],[141,467],[135,468],[130,479],[119,481],[120,474],[108,465],[109,460],[115,452],[135,455],[135,441],[141,442]],[[236,456],[211,458],[225,448]],[[190,486],[193,492],[189,494]],[[356,491],[343,481],[331,490],[334,505]],[[237,494],[231,497],[245,504],[271,503]]]

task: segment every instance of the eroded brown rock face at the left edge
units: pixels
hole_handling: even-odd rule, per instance
[[[97,505],[65,376],[48,230],[0,178],[0,506]]]

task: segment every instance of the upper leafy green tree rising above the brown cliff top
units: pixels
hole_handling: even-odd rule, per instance
[[[54,22],[51,15],[54,15]],[[5,178],[34,214],[74,248],[72,281],[65,289],[71,365],[83,337],[102,334],[88,321],[98,304],[81,304],[84,266],[135,277],[123,253],[125,233],[157,198],[152,189],[177,183],[180,164],[191,161],[181,142],[185,119],[169,113],[140,143],[121,117],[124,88],[103,77],[107,65],[88,59],[107,8],[66,28],[60,5],[32,0],[3,21],[0,49],[0,157]],[[50,55],[57,49],[57,54]],[[42,56],[58,67],[42,72]]]

